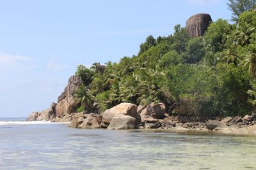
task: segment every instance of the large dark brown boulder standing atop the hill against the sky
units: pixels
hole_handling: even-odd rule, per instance
[[[211,15],[207,13],[198,13],[188,18],[186,21],[186,29],[189,36],[203,36],[211,22]]]

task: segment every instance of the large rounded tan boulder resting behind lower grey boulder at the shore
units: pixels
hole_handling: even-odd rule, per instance
[[[110,123],[113,117],[118,115],[127,115],[130,117],[136,117],[137,115],[137,106],[131,103],[121,103],[109,110],[102,113],[102,121]]]

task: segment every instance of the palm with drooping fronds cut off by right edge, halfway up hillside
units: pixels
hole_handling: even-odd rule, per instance
[[[243,67],[246,67],[249,65],[248,69],[253,74],[253,76],[256,76],[256,45],[250,44],[248,45],[248,53],[244,55],[244,60],[239,64]]]

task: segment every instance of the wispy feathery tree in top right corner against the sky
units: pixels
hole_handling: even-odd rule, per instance
[[[238,17],[244,11],[255,8],[256,0],[228,0],[228,9],[232,11],[232,21],[237,22]]]

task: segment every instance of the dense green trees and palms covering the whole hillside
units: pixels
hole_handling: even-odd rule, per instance
[[[104,73],[78,66],[84,82],[75,94],[79,111],[162,102],[170,115],[250,114],[256,104],[256,11],[241,2],[229,4],[239,16],[236,25],[219,19],[197,38],[176,25],[173,35],[148,36],[138,55],[106,63]]]

